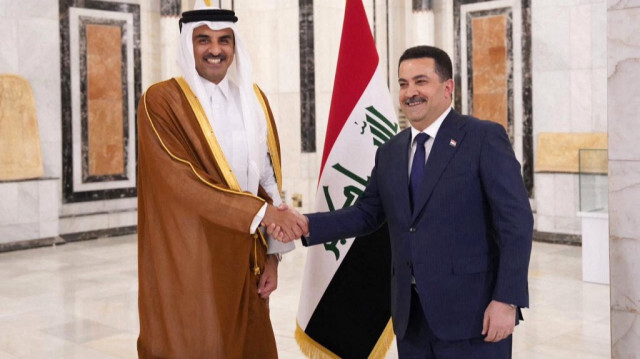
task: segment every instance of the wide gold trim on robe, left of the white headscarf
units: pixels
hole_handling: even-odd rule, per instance
[[[187,101],[189,101],[189,105],[191,105],[191,109],[193,113],[196,115],[198,119],[198,123],[200,124],[200,128],[202,128],[202,132],[204,133],[204,137],[207,139],[207,143],[209,144],[209,148],[211,148],[211,153],[215,158],[218,166],[220,167],[220,171],[222,172],[222,176],[224,177],[225,182],[229,186],[229,188],[236,190],[238,192],[242,192],[242,188],[238,183],[238,179],[233,174],[233,170],[231,166],[229,166],[229,162],[227,162],[227,158],[222,152],[222,148],[216,139],[215,134],[213,133],[213,128],[211,128],[211,123],[207,119],[207,114],[204,112],[200,101],[196,95],[191,91],[191,87],[184,79],[184,77],[174,77],[178,85],[180,85],[180,89],[184,93]]]

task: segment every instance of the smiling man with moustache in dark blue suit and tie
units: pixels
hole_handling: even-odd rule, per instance
[[[510,358],[519,308],[529,305],[533,232],[520,164],[501,125],[451,108],[444,51],[406,50],[398,75],[411,127],[380,147],[354,206],[308,215],[303,244],[386,221],[400,358]]]

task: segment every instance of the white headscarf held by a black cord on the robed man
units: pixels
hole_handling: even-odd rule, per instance
[[[197,0],[194,10],[206,10],[217,9],[217,7],[205,5],[203,0]],[[243,188],[245,191],[250,191],[253,194],[257,194],[258,185],[260,183],[260,173],[265,165],[266,158],[266,119],[262,107],[256,98],[253,90],[253,74],[251,72],[251,59],[247,52],[242,39],[238,33],[235,23],[224,21],[197,21],[189,22],[182,25],[182,31],[180,33],[180,45],[178,47],[178,66],[182,70],[182,74],[198,97],[198,101],[205,108],[205,104],[209,103],[209,96],[205,90],[202,82],[200,81],[200,75],[196,70],[196,63],[193,55],[193,29],[207,25],[212,30],[231,29],[233,30],[235,40],[235,55],[234,60],[227,75],[229,80],[232,81],[240,90],[240,107],[242,113],[242,120],[244,122],[245,131],[247,132],[247,143],[249,145],[248,155],[248,171],[247,171],[247,184],[248,188]],[[215,115],[215,114],[213,114]],[[209,122],[216,132],[215,121],[213,121],[212,114],[207,113],[209,116]],[[215,119],[216,121],[224,121],[225,119]]]

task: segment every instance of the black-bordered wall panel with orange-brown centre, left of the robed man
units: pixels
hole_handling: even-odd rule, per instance
[[[136,108],[142,87],[140,6],[60,0],[59,9],[63,203],[135,197]],[[118,41],[118,34],[120,54],[101,55],[100,42]],[[98,50],[89,53],[90,48]],[[103,69],[110,73],[101,74]],[[105,87],[113,81],[120,85]],[[97,142],[90,141],[92,134]]]

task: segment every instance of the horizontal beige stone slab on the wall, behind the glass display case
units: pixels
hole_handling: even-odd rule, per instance
[[[580,149],[607,149],[606,133],[540,133],[536,172],[578,173]],[[591,172],[607,173],[606,158],[595,158]]]

